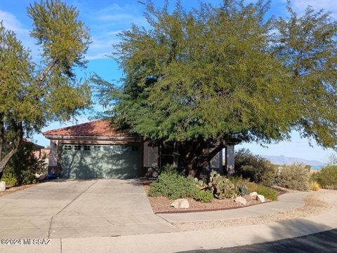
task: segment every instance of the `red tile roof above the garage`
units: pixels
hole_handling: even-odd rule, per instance
[[[98,120],[91,121],[79,125],[72,125],[67,128],[59,128],[56,130],[48,130],[43,135],[65,135],[65,136],[129,136],[125,132],[120,132],[116,128],[112,128],[110,121]]]

